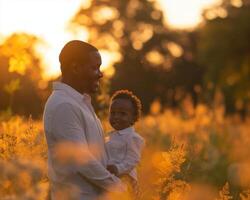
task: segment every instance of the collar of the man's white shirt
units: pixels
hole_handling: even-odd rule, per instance
[[[68,84],[62,83],[62,82],[54,82],[53,83],[53,90],[62,90],[65,91],[67,94],[69,94],[73,99],[77,100],[78,102],[82,102],[83,100],[87,102],[91,102],[91,97],[84,93],[81,94],[78,91],[76,91],[74,88],[69,86]]]

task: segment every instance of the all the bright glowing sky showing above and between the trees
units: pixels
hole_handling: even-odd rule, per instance
[[[201,11],[218,0],[159,0],[167,23],[175,28],[191,28],[201,20]],[[0,0],[0,42],[13,32],[27,32],[44,39],[39,48],[44,55],[46,75],[59,72],[58,54],[71,39],[86,39],[87,33],[67,30],[67,22],[85,0]],[[104,52],[103,66],[111,56]]]

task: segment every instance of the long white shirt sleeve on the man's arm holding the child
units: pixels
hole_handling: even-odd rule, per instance
[[[91,144],[87,143],[83,123],[82,113],[76,106],[62,103],[56,107],[52,118],[52,134],[56,141],[54,167],[63,166],[65,173],[78,173],[105,190],[123,191],[120,179],[109,173],[89,151]]]

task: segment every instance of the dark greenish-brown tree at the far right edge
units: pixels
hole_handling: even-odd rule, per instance
[[[205,82],[213,86],[212,94],[217,88],[223,91],[229,112],[245,111],[250,99],[250,1],[237,2],[225,0],[206,10],[198,31]]]

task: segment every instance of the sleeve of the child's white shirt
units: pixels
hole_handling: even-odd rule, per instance
[[[127,153],[123,161],[116,164],[118,174],[123,175],[129,173],[139,163],[141,159],[141,151],[145,145],[144,139],[133,136],[127,142]]]

